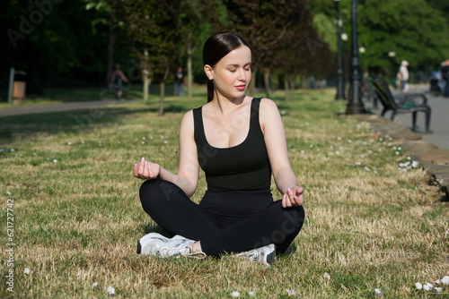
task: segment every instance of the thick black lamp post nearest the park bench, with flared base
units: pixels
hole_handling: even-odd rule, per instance
[[[364,104],[362,103],[361,79],[360,79],[360,62],[358,61],[357,46],[357,0],[351,0],[351,28],[352,28],[352,75],[351,85],[349,88],[349,101],[346,107],[347,115],[356,115],[366,113]]]

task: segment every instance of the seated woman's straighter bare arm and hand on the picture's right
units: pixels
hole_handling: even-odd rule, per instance
[[[297,185],[295,173],[288,160],[284,124],[276,104],[269,98],[262,98],[260,101],[260,124],[277,189],[284,194],[283,207],[303,204],[304,190]]]

